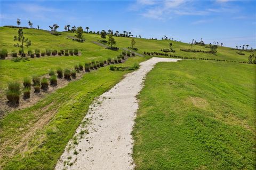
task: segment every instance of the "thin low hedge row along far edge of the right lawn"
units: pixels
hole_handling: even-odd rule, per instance
[[[166,54],[166,53],[159,53],[159,52],[144,52],[145,55],[162,55],[162,56],[170,56],[171,58],[178,58],[178,59],[194,59],[197,60],[196,57],[187,57],[187,56],[179,56],[179,55],[172,55],[172,54]],[[250,60],[252,58],[252,60]],[[255,58],[255,60],[253,60]],[[239,63],[253,63],[255,61],[256,63],[256,56],[251,55],[249,56],[249,62],[246,61],[235,61],[235,60],[220,60],[220,59],[213,59],[213,58],[198,58],[198,60],[215,60],[215,61],[227,61],[227,62],[239,62]],[[252,61],[252,62],[250,62]]]

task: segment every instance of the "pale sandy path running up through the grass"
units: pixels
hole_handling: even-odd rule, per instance
[[[133,169],[131,132],[138,109],[135,96],[157,62],[178,60],[151,58],[103,93],[91,104],[55,169]]]

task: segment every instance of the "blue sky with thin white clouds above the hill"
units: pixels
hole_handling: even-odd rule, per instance
[[[256,48],[255,1],[1,1],[1,26],[49,29],[57,23],[90,30],[123,30],[182,42],[213,41]]]

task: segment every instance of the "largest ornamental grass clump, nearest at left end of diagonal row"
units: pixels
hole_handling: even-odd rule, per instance
[[[18,104],[20,100],[20,84],[17,82],[10,82],[6,92],[7,100],[12,104]]]

